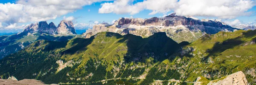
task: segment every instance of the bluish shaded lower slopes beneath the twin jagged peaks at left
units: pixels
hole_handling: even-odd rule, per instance
[[[54,36],[49,34],[14,34],[9,37],[0,37],[0,59],[3,57],[20,51],[27,45],[37,40],[49,40],[49,41],[67,41],[75,36]]]

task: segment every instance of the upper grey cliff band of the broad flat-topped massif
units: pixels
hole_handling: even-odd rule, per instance
[[[215,28],[227,28],[232,30],[234,28],[227,26],[217,20],[195,20],[190,17],[183,17],[183,16],[175,16],[175,14],[171,14],[166,17],[152,17],[149,19],[141,19],[141,18],[120,18],[118,20],[118,25],[122,26],[125,24],[136,25],[136,26],[194,26],[194,25],[203,25],[203,26],[210,26]]]

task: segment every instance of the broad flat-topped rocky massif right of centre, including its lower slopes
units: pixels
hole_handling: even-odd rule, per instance
[[[238,30],[218,20],[198,20],[194,17],[183,17],[170,14],[166,17],[120,18],[113,25],[102,23],[87,30],[83,36],[91,36],[102,31],[115,32],[119,34],[134,34],[143,38],[149,37],[157,32],[166,32],[166,35],[176,42],[193,42],[204,34],[216,34],[219,31],[232,32]]]

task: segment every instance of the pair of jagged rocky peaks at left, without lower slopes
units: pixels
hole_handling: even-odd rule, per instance
[[[70,35],[70,34],[76,34],[74,25],[71,21],[65,21],[62,20],[61,23],[58,25],[58,27],[55,26],[54,23],[47,23],[46,21],[41,21],[38,23],[32,23],[29,26],[26,26],[24,31],[22,32],[24,34],[33,34],[33,33],[39,33],[39,34],[62,34],[62,35]]]

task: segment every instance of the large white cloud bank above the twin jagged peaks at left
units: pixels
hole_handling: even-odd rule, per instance
[[[0,3],[0,22],[10,26],[51,20],[102,1],[111,0],[17,0],[16,3]]]

